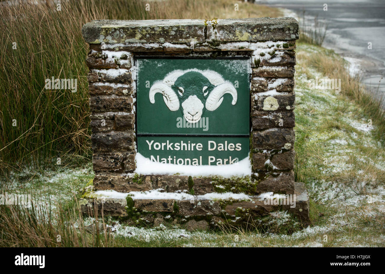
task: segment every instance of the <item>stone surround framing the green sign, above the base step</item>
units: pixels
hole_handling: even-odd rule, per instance
[[[295,193],[294,18],[96,20],[85,24],[82,33],[90,45],[86,63],[96,190]],[[135,173],[138,56],[249,58],[253,172],[248,178],[193,177],[189,185],[187,176]],[[219,181],[221,188],[216,187]],[[165,212],[172,210],[166,204]]]

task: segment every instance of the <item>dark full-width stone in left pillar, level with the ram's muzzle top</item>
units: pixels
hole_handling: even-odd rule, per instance
[[[132,97],[129,96],[109,96],[99,95],[90,97],[90,110],[93,112],[102,111],[125,111],[132,110]]]

